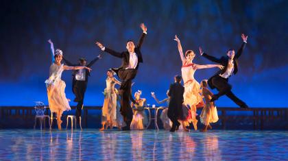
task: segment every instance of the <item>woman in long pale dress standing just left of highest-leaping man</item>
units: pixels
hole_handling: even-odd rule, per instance
[[[102,107],[102,127],[100,131],[104,129],[113,128],[113,123],[116,121],[116,106],[117,106],[117,95],[115,92],[115,84],[121,85],[115,77],[113,77],[113,71],[107,71],[106,88],[104,90],[104,105]],[[106,128],[105,128],[106,125]]]

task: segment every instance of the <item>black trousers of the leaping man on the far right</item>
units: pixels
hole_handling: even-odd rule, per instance
[[[225,79],[224,77],[220,77],[219,75],[216,75],[215,77],[212,78],[212,84],[219,91],[216,94],[218,97],[221,97],[222,95],[226,95],[229,99],[234,101],[238,106],[245,105],[245,102],[243,102],[241,99],[236,97],[234,93],[231,91],[232,86],[228,84],[228,79]]]

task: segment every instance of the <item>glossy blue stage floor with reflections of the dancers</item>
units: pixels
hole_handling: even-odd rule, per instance
[[[0,160],[287,160],[287,131],[2,129]]]

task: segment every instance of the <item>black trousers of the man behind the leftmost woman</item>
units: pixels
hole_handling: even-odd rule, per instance
[[[76,119],[79,123],[79,118],[82,114],[82,107],[83,107],[83,101],[84,101],[84,94],[87,88],[87,82],[86,81],[75,81],[73,86],[73,93],[75,95],[74,101],[77,102],[76,107]]]

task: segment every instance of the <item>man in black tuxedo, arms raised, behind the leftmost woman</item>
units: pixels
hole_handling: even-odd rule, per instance
[[[97,58],[86,64],[86,59],[85,58],[80,58],[78,64],[73,64],[69,62],[67,59],[63,57],[64,62],[68,66],[87,66],[91,67],[97,60],[101,59],[101,55],[98,55]],[[79,123],[79,118],[82,113],[82,108],[83,108],[83,101],[84,101],[84,94],[87,88],[87,83],[88,83],[88,76],[90,76],[90,71],[87,69],[80,69],[80,70],[75,70],[72,73],[72,91],[75,95],[74,101],[77,102],[77,108],[76,108],[76,119],[77,123]]]

